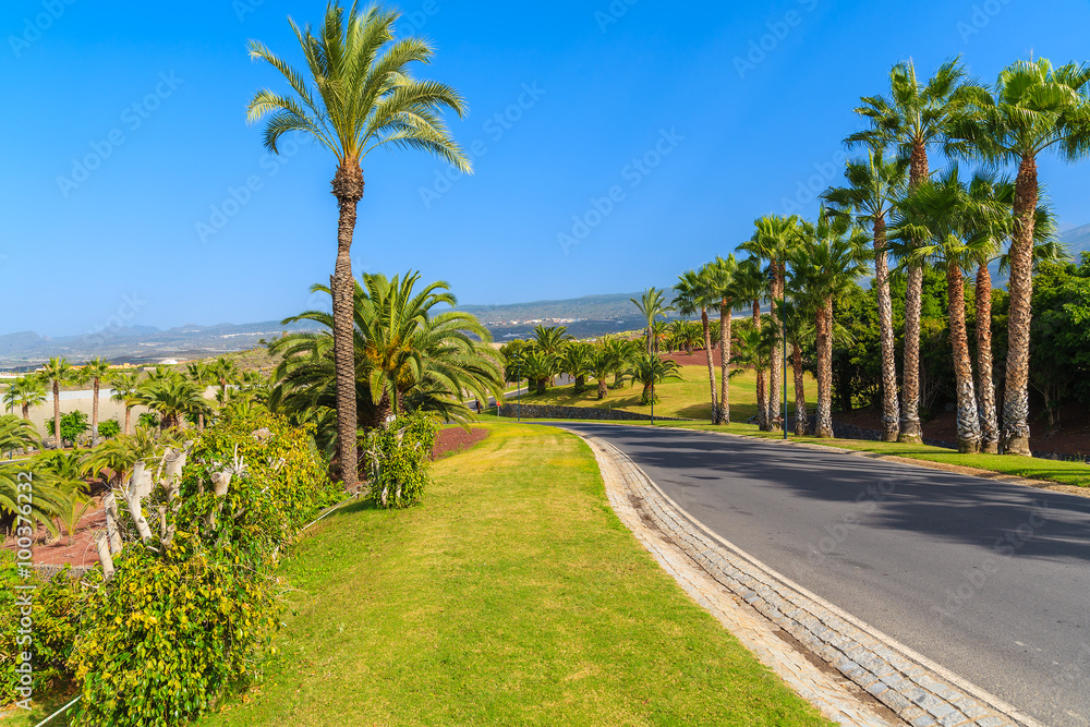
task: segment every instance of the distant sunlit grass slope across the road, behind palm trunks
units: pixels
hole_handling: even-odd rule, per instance
[[[716,396],[719,387],[719,369],[715,369]],[[795,384],[788,374],[787,412],[795,412]],[[807,374],[807,405],[818,402],[818,384]],[[609,389],[609,395],[598,401],[597,381],[588,380],[588,390],[577,395],[574,386],[553,387],[544,395],[524,393],[524,404],[547,404],[559,407],[596,407],[598,409],[623,409],[627,411],[650,414],[651,407],[640,403],[643,387],[626,385],[622,389]],[[712,419],[711,392],[707,384],[707,366],[682,366],[680,380],[669,380],[655,387],[658,392],[658,403],[655,414],[661,416],[677,416],[680,419]],[[746,371],[730,379],[730,419],[744,422],[756,415],[756,374]]]

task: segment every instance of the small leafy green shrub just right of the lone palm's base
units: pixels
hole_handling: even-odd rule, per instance
[[[370,433],[362,449],[375,502],[384,508],[420,502],[432,480],[434,445],[435,423],[422,412],[401,416],[388,428]]]

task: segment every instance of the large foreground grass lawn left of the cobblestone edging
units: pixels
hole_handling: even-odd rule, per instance
[[[489,428],[422,506],[314,529],[266,681],[202,725],[831,724],[643,550],[585,445]]]

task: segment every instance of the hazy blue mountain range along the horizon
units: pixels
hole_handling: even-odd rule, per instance
[[[1059,235],[1071,255],[1090,252],[1090,225],[1066,230]],[[524,337],[538,323],[562,324],[579,337],[588,338],[640,327],[635,306],[629,299],[639,292],[585,295],[567,300],[534,301],[509,305],[462,305],[484,323],[497,340]],[[36,366],[49,356],[83,361],[102,356],[116,362],[157,362],[164,359],[204,359],[228,351],[244,351],[261,339],[270,340],[284,330],[313,329],[313,324],[281,326],[277,320],[252,324],[185,325],[168,330],[150,326],[111,328],[97,334],[50,338],[33,331],[0,336],[0,368]]]

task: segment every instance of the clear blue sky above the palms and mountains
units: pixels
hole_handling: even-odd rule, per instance
[[[839,179],[852,109],[897,61],[930,74],[960,53],[991,82],[1030,54],[1090,57],[1085,0],[400,7],[399,32],[437,47],[421,75],[470,104],[451,125],[476,173],[450,181],[416,153],[368,158],[355,269],[419,269],[463,303],[670,284],[761,215],[814,214],[807,186]],[[264,152],[245,105],[283,86],[245,43],[298,63],[287,16],[316,23],[324,9],[4,0],[0,334],[307,306],[332,269],[334,162],[306,142]],[[1041,172],[1063,221],[1090,222],[1090,162]]]

